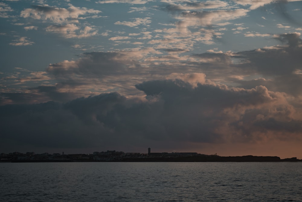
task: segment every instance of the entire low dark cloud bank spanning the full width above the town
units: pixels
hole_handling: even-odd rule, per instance
[[[255,140],[253,133],[274,131],[273,124],[265,124],[272,116],[284,131],[301,132],[298,126],[287,130],[288,121],[300,120],[291,117],[293,109],[283,95],[263,86],[244,90],[198,83],[193,87],[176,79],[147,81],[136,88],[146,93],[146,101],[107,93],[65,104],[1,106],[1,144],[14,140],[34,147],[79,148],[138,146],[148,141],[246,142]]]

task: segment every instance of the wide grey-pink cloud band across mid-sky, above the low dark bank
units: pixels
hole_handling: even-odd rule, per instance
[[[169,48],[171,43],[177,45],[185,43],[184,39],[151,40],[149,43],[158,43],[160,48],[157,50],[138,48],[133,51],[87,52],[77,60],[50,64],[47,68],[47,76],[58,81],[57,91],[72,91],[74,96],[87,96],[104,91],[117,91],[124,96],[130,94],[131,96],[141,96],[138,91],[133,89],[133,84],[145,79],[173,79],[170,77],[172,73],[175,74],[175,78],[189,82],[180,75],[192,72],[206,74],[212,81],[221,84],[233,85],[232,83],[235,82],[236,85],[240,84],[241,87],[248,87],[248,89],[264,85],[270,91],[298,96],[300,91],[295,90],[297,88],[294,83],[291,84],[289,81],[292,78],[295,84],[300,84],[300,74],[297,73],[301,69],[302,62],[299,37],[299,33],[274,35],[274,38],[283,45],[270,48],[240,52],[210,50],[202,54],[184,56],[179,54],[187,52],[188,49]],[[121,40],[122,38],[112,39]],[[165,44],[167,45],[165,46]],[[162,51],[166,53],[162,53]],[[259,82],[254,86],[246,87],[241,81],[250,80],[245,79],[248,75],[256,75],[274,82]],[[284,77],[281,78],[281,75]],[[281,84],[275,82],[278,79],[289,82],[289,84],[282,87]],[[197,81],[202,83],[201,80]]]

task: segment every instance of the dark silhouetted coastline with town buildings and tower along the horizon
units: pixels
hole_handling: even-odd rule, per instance
[[[196,152],[162,152],[147,154],[125,153],[122,151],[102,151],[93,154],[35,154],[34,152],[13,152],[0,154],[0,162],[297,162],[297,157],[281,159],[277,156],[218,156]]]

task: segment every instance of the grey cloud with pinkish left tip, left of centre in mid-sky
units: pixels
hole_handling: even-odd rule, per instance
[[[91,78],[101,78],[110,75],[125,75],[140,73],[139,60],[148,54],[161,54],[153,48],[118,52],[86,52],[75,61],[61,61],[50,64],[47,72],[71,78],[75,75]]]

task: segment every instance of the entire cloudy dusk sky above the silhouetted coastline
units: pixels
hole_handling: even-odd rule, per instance
[[[299,0],[0,0],[0,152],[302,158]]]

